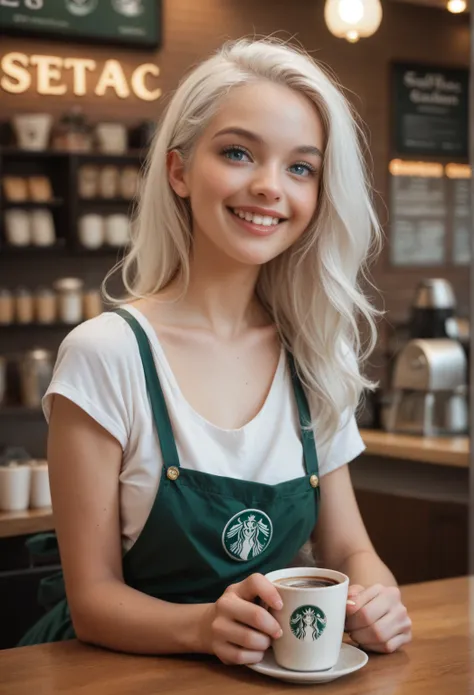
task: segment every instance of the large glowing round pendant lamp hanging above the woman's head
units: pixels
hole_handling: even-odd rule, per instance
[[[355,43],[375,34],[382,21],[382,5],[380,0],[326,0],[324,19],[331,34]]]

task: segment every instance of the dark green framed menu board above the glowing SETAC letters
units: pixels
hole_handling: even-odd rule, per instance
[[[0,33],[156,47],[161,0],[0,0]]]

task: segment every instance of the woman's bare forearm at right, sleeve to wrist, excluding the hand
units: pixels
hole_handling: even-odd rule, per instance
[[[344,572],[351,584],[396,586],[367,534],[348,466],[323,476],[320,485],[321,509],[313,537],[318,564]]]

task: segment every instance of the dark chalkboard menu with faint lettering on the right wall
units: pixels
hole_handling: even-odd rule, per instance
[[[394,64],[397,154],[467,159],[468,92],[468,70]]]

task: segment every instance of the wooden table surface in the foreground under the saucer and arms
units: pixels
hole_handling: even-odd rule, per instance
[[[362,670],[322,686],[321,695],[468,695],[474,689],[474,577],[402,589],[414,640],[371,655]],[[0,695],[289,695],[297,685],[210,658],[136,657],[76,641],[0,651]],[[305,686],[301,692],[318,692]]]

